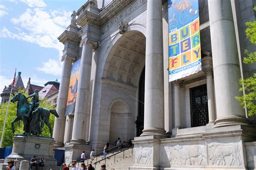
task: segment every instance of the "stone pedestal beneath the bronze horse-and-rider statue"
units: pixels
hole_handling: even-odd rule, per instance
[[[22,160],[30,161],[33,156],[37,157],[37,161],[45,158],[45,169],[57,170],[57,160],[53,158],[53,145],[55,140],[51,137],[23,136],[18,134],[13,138],[11,154],[5,158],[4,162],[9,160],[17,160],[16,165],[19,165]],[[17,166],[16,166],[17,167]]]

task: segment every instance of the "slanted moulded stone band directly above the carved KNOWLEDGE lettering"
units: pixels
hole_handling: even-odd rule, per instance
[[[106,22],[109,22],[112,18],[116,17],[124,11],[127,6],[132,4],[135,0],[126,0],[126,1],[114,1],[112,4],[107,6],[102,12],[99,13],[100,24],[104,25]]]

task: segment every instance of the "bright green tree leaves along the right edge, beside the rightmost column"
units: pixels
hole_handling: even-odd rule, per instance
[[[256,6],[254,6],[254,10],[256,11]],[[247,38],[252,42],[252,44],[256,45],[256,22],[247,22],[246,26],[247,29],[245,33]],[[248,50],[245,50],[245,54],[244,63],[256,63],[255,51],[248,52]],[[244,84],[244,87],[241,87],[239,90],[245,90],[245,95],[236,97],[237,100],[241,102],[241,105],[244,108],[247,108],[248,116],[256,115],[256,73],[247,79],[240,79],[239,83],[241,85]]]

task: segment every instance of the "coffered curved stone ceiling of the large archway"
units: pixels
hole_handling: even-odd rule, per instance
[[[117,43],[107,69],[107,79],[137,86],[140,73],[145,66],[146,38],[135,32]]]

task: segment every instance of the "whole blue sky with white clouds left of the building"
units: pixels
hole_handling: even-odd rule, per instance
[[[15,68],[24,86],[43,86],[60,79],[64,45],[58,36],[70,24],[70,15],[86,0],[0,1],[0,91],[12,82]],[[61,81],[61,80],[60,80]]]

